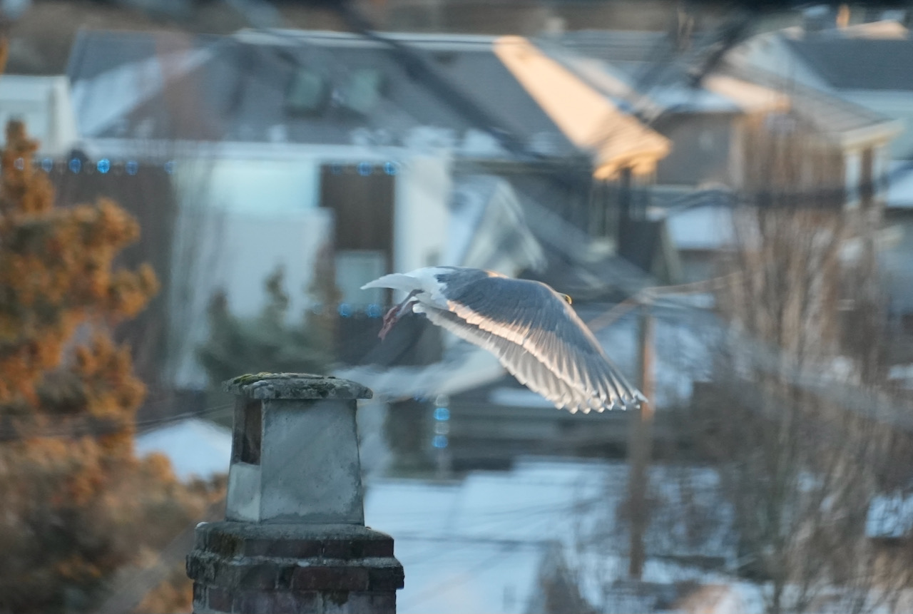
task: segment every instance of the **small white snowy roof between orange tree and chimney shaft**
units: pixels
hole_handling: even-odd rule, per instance
[[[210,479],[228,472],[231,429],[199,418],[188,418],[137,435],[138,456],[162,453],[181,480]]]

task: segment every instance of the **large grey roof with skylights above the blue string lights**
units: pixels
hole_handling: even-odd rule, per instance
[[[456,151],[503,156],[488,136],[493,128],[546,157],[579,153],[494,55],[494,38],[393,38],[470,99],[476,116],[392,47],[329,32],[85,31],[68,76],[89,138],[377,145],[436,139]],[[289,111],[296,78],[305,90],[326,90],[313,112]],[[352,103],[359,96],[360,109]]]

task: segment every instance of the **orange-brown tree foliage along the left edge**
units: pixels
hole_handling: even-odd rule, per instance
[[[152,269],[115,270],[139,236],[101,201],[54,206],[37,143],[16,121],[0,154],[0,612],[89,611],[205,514],[218,493],[137,459],[145,394],[111,329],[157,291]],[[144,611],[189,609],[173,574]]]

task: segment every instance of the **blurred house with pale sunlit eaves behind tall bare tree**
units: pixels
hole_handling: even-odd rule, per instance
[[[678,250],[679,278],[712,276],[715,255],[734,239],[729,211],[740,199],[762,204],[772,193],[792,191],[880,219],[887,198],[881,179],[887,152],[902,129],[890,116],[741,61],[723,62],[696,81],[704,70],[705,49],[687,37],[581,31],[541,45],[672,143],[671,152],[657,162],[648,195],[641,197],[645,213],[639,214],[639,224],[667,221],[666,235]],[[730,53],[740,57],[738,51]],[[765,135],[774,133],[792,135],[816,151],[802,162],[808,168],[796,173],[799,179],[783,176],[771,185],[766,170],[757,167],[756,151]],[[638,237],[619,224],[606,228],[621,237],[622,253],[624,238],[634,243]]]

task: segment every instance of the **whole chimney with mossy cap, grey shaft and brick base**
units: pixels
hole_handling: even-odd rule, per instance
[[[196,529],[187,575],[194,613],[394,613],[403,566],[364,526],[349,380],[258,373],[236,395],[226,520]]]

